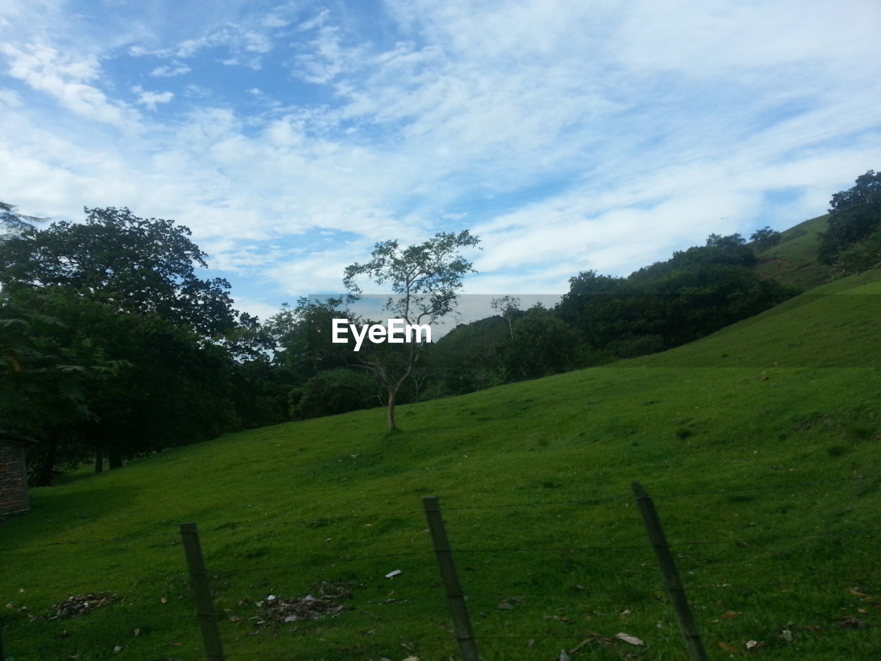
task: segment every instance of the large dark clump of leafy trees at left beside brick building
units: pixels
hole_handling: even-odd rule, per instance
[[[186,227],[115,208],[87,209],[77,224],[10,225],[0,426],[39,441],[35,484],[86,457],[113,468],[284,420],[260,397],[278,378],[249,378],[269,363],[271,339],[233,309],[225,280],[196,277],[205,255]]]

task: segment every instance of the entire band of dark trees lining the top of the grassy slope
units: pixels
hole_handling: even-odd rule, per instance
[[[821,261],[845,272],[881,263],[879,196],[871,171],[833,196]],[[779,233],[711,234],[627,278],[581,272],[554,308],[493,301],[497,315],[416,361],[405,345],[356,355],[329,338],[332,318],[355,318],[343,299],[300,299],[259,323],[233,308],[226,280],[196,276],[206,255],[186,227],[85,212],[40,228],[0,203],[0,429],[39,441],[38,485],[85,460],[113,468],[234,429],[384,405],[402,374],[400,404],[663,351],[796,293],[751,269]]]

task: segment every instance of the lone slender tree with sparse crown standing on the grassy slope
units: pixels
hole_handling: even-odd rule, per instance
[[[455,308],[463,277],[474,271],[460,250],[474,248],[479,242],[468,230],[458,234],[439,232],[428,241],[403,249],[395,240],[382,241],[375,245],[369,262],[345,268],[343,284],[351,299],[357,300],[361,293],[357,280],[367,276],[377,285],[389,286],[394,294],[384,309],[408,325],[431,324]],[[388,393],[389,429],[396,429],[396,397],[417,365],[422,341],[411,335],[404,347],[403,369],[399,372],[389,369],[382,355],[363,360]]]

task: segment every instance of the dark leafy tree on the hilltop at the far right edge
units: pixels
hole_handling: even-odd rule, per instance
[[[835,193],[829,203],[829,227],[820,234],[818,259],[846,271],[877,264],[870,235],[881,231],[881,172],[870,170],[856,178],[856,185]],[[851,248],[855,252],[843,254]]]

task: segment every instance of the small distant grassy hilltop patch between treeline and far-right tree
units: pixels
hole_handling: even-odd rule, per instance
[[[781,241],[759,253],[755,271],[784,285],[810,289],[835,277],[833,270],[817,263],[818,235],[824,232],[829,216],[805,220],[781,232]]]

